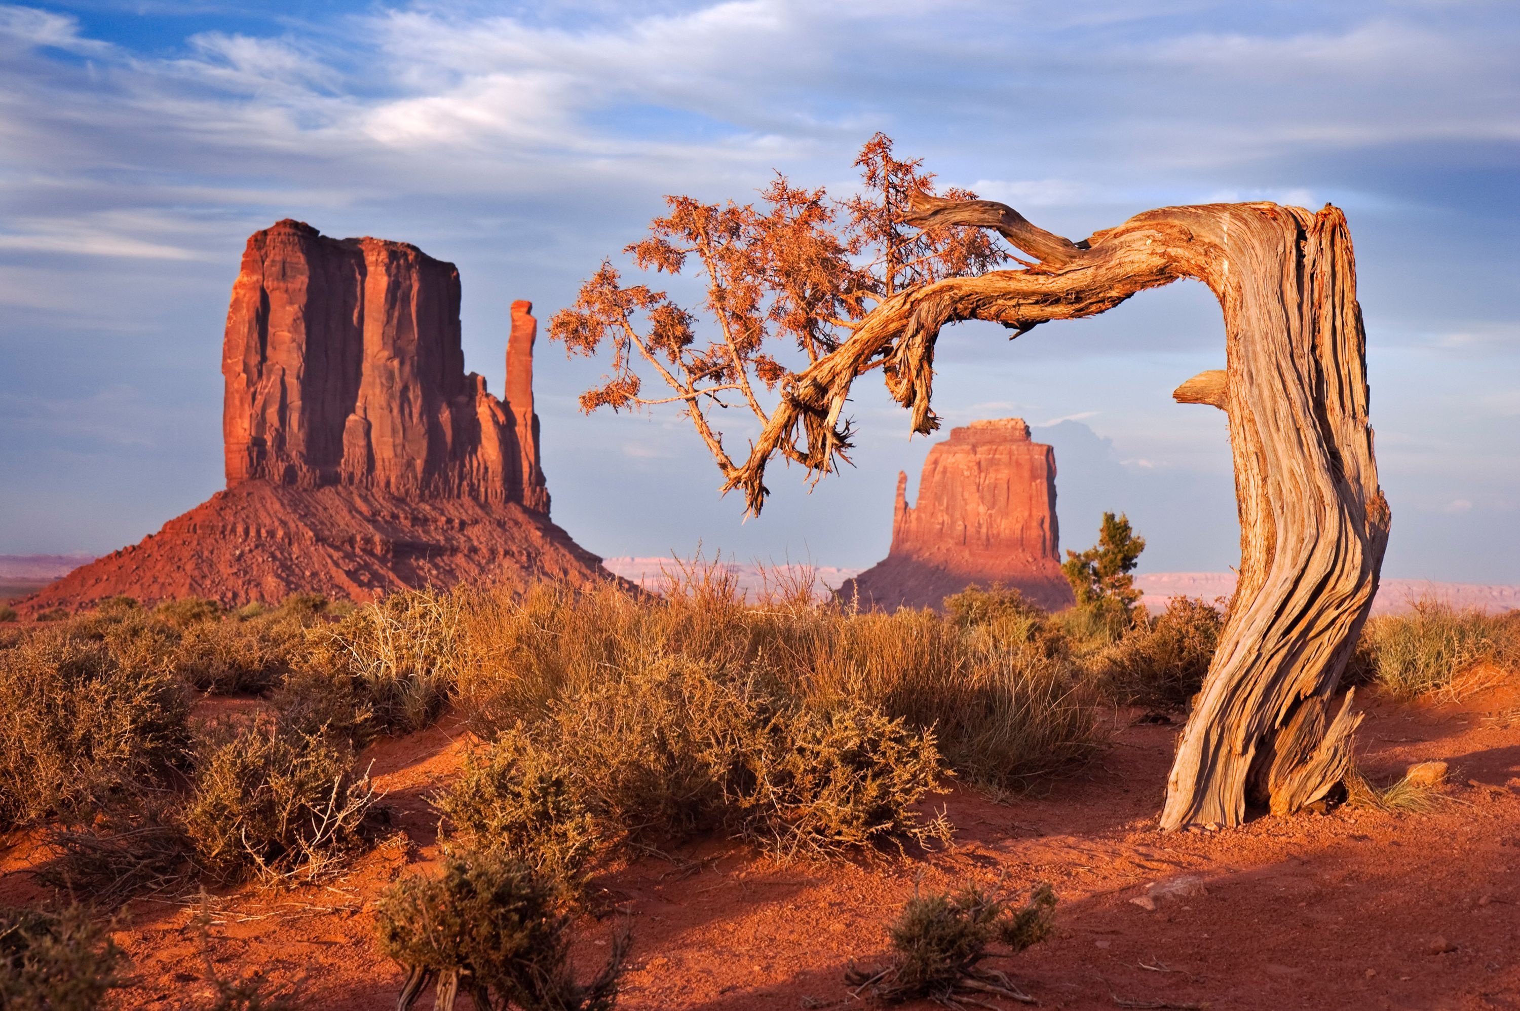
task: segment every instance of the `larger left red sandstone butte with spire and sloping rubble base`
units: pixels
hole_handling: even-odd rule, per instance
[[[454,265],[296,220],[255,233],[222,345],[226,491],[20,608],[613,579],[549,521],[537,328],[514,303],[497,400],[465,372]]]

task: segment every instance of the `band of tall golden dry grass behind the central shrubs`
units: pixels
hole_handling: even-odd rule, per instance
[[[806,594],[746,604],[727,572],[707,570],[664,597],[616,587],[477,594],[464,628],[458,698],[486,737],[660,658],[806,710],[874,707],[932,731],[958,772],[988,784],[1070,766],[1096,742],[1081,670],[1026,602],[985,602],[950,622],[853,614]]]

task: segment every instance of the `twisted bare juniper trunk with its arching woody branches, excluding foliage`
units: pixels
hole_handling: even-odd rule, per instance
[[[1018,336],[1181,277],[1204,281],[1224,310],[1228,368],[1189,380],[1175,397],[1230,418],[1240,582],[1183,731],[1161,826],[1233,826],[1248,801],[1287,813],[1324,797],[1347,771],[1360,719],[1350,692],[1339,708],[1335,696],[1389,528],[1345,217],[1328,205],[1318,214],[1275,204],[1173,207],[1072,243],[991,201],[924,198],[917,207],[917,223],[996,228],[1038,263],[886,299],[844,347],[795,377],[728,486],[758,509],[774,453],[827,468],[847,445],[836,421],[850,385],[876,363],[915,429],[932,432],[933,345],[947,322],[991,319]]]

